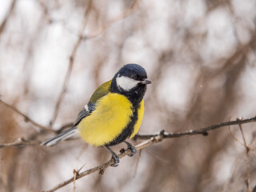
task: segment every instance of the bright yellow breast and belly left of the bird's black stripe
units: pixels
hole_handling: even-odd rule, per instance
[[[106,94],[96,102],[96,110],[78,124],[79,134],[94,146],[113,141],[130,122],[130,116],[133,114],[131,106],[131,102],[121,94]],[[136,133],[141,122],[137,124]]]

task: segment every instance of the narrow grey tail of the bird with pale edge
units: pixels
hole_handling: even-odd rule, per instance
[[[68,130],[63,131],[61,134],[56,135],[54,138],[50,138],[46,142],[42,142],[41,146],[54,146],[58,142],[65,140],[66,138],[70,138],[71,136],[77,133],[78,133],[78,129],[76,126],[74,126]]]

